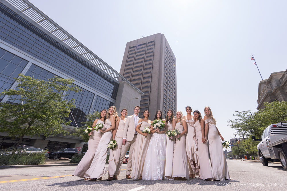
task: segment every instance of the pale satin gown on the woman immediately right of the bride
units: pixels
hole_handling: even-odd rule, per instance
[[[172,130],[172,123],[167,123],[168,130]],[[173,160],[173,148],[175,139],[171,140],[166,135],[166,160],[165,160],[165,179],[171,179],[172,177],[172,160]]]

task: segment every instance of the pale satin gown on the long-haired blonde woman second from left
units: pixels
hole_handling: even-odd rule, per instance
[[[110,118],[106,120],[105,128],[108,129],[112,126],[112,123],[110,122]],[[107,157],[107,151],[108,151],[108,143],[113,137],[112,131],[105,132],[102,135],[102,138],[100,140],[100,143],[98,145],[98,148],[96,150],[93,162],[90,166],[90,168],[85,173],[85,178],[100,178],[104,176],[107,173],[106,170],[106,157]]]

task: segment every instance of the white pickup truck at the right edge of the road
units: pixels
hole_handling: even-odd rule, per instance
[[[264,129],[261,139],[255,139],[255,136],[252,139],[260,141],[257,154],[263,166],[268,166],[268,162],[280,161],[287,171],[287,122],[271,124]]]

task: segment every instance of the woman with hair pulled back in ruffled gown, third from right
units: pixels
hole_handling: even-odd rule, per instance
[[[186,137],[186,154],[188,158],[189,178],[195,178],[199,173],[199,161],[197,155],[197,139],[195,137],[195,129],[193,127],[194,120],[191,115],[192,109],[190,106],[185,108],[187,115],[184,117],[187,123]]]

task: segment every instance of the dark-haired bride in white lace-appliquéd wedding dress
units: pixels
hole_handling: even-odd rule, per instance
[[[162,111],[156,111],[154,120],[162,120]],[[166,131],[167,126],[161,131],[158,127],[156,129],[151,127],[152,137],[146,153],[142,180],[162,180],[164,178]]]

